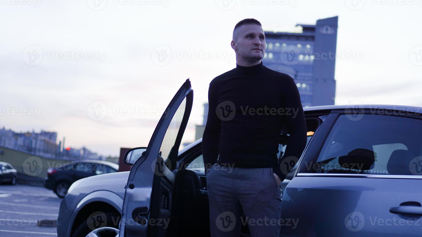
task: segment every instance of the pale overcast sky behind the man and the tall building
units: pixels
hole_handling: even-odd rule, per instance
[[[66,146],[117,156],[148,144],[189,77],[193,141],[209,82],[236,65],[230,41],[244,18],[286,30],[338,16],[337,52],[362,58],[336,61],[335,104],[422,106],[420,1],[353,1],[0,0],[0,127],[56,131]],[[101,105],[106,116],[92,117]]]

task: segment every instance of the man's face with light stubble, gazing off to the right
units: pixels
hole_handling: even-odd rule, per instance
[[[235,35],[237,40],[233,40],[234,45],[232,41],[232,48],[235,47],[241,58],[246,61],[257,61],[264,57],[265,35],[260,25],[243,25],[235,30]]]

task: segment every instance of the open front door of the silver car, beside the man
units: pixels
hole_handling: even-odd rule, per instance
[[[193,90],[187,79],[160,118],[146,151],[130,170],[125,184],[119,237],[166,236],[177,172],[176,159],[192,101]]]

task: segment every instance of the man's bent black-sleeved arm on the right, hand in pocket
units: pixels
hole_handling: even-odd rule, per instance
[[[273,168],[274,173],[279,176],[281,181],[286,178],[287,174],[292,170],[300,158],[303,149],[305,149],[307,133],[299,90],[293,78],[288,77],[287,80],[285,80],[283,87],[285,88],[282,97],[282,102],[285,107],[284,121],[289,130],[290,138],[278,167]]]

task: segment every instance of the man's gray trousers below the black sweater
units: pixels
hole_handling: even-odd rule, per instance
[[[281,193],[273,168],[214,164],[207,186],[211,237],[239,237],[244,223],[252,237],[279,237]]]

